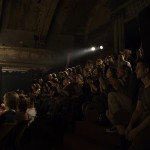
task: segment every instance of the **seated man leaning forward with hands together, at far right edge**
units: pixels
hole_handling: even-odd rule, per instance
[[[130,150],[144,150],[150,149],[150,60],[139,60],[135,72],[143,86],[139,90],[137,105],[126,129],[126,138],[132,141]]]

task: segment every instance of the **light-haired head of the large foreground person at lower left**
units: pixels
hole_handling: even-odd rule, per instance
[[[14,92],[7,92],[4,95],[4,105],[6,110],[15,110],[18,109],[18,103],[19,103],[19,95]]]

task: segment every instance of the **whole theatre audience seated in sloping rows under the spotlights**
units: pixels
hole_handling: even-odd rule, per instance
[[[88,60],[83,67],[50,73],[34,79],[31,88],[30,93],[4,95],[0,125],[13,123],[18,129],[23,122],[9,148],[38,149],[47,144],[51,149],[91,109],[97,111],[99,125],[110,126],[106,132],[118,133],[120,150],[150,146],[146,136],[150,130],[150,61],[141,49],[135,59],[132,51],[125,49],[104,59]],[[4,139],[1,143],[8,148],[10,138]]]

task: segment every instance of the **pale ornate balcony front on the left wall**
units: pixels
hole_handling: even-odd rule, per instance
[[[5,68],[49,69],[53,65],[50,50],[0,46],[0,66]]]

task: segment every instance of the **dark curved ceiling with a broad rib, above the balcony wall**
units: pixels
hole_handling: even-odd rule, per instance
[[[27,31],[39,45],[51,34],[85,36],[105,26],[125,0],[0,0],[1,29]]]

